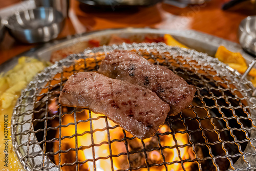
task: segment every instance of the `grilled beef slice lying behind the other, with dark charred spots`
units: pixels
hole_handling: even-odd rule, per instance
[[[177,115],[193,100],[196,89],[163,66],[148,62],[135,52],[115,50],[102,60],[99,73],[138,84],[155,92]]]

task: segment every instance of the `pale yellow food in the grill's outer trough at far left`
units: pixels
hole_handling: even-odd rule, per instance
[[[18,64],[12,70],[0,74],[0,131],[3,133],[0,134],[0,170],[24,170],[12,147],[10,132],[12,112],[20,91],[46,66],[45,62],[23,56],[18,59]]]

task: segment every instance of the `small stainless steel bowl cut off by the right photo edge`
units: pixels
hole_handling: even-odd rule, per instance
[[[256,16],[248,16],[242,20],[238,29],[238,38],[242,48],[256,56]]]

